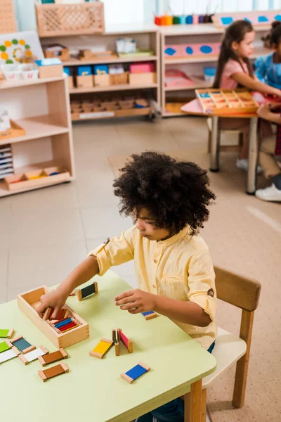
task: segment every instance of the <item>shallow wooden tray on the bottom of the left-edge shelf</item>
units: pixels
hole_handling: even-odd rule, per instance
[[[32,186],[39,187],[48,184],[63,183],[63,181],[67,180],[70,180],[70,172],[58,166],[13,174],[13,176],[8,176],[4,179],[9,191],[27,189]]]

